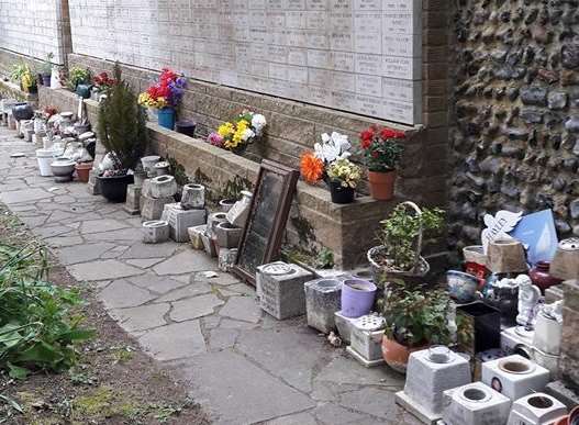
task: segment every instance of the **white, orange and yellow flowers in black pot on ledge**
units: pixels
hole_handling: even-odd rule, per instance
[[[337,132],[324,133],[321,143],[314,145],[314,150],[301,157],[303,179],[310,184],[325,181],[334,203],[353,202],[354,190],[361,180],[360,167],[348,159],[350,147],[348,136]]]

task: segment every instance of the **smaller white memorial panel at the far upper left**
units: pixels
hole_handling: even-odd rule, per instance
[[[36,59],[53,53],[53,63],[64,64],[70,52],[68,0],[0,0],[1,49]]]

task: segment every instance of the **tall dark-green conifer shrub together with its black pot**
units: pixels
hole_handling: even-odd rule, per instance
[[[98,177],[102,195],[113,202],[124,202],[126,186],[133,182],[127,174],[143,156],[147,144],[145,114],[136,97],[121,79],[121,67],[114,65],[114,79],[109,96],[99,107],[98,133],[102,145],[111,154],[113,169]]]

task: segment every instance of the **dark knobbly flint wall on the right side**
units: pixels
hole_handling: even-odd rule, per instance
[[[480,243],[482,216],[553,209],[579,235],[577,1],[460,0],[455,20],[450,243]]]

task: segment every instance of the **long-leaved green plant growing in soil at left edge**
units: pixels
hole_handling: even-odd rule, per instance
[[[0,369],[12,378],[69,369],[76,345],[93,334],[74,314],[78,292],[46,281],[46,256],[36,247],[0,245]]]

